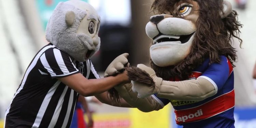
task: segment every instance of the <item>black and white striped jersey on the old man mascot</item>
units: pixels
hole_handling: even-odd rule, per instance
[[[6,110],[5,128],[69,128],[79,94],[56,78],[80,72],[99,78],[90,60],[77,62],[51,43],[44,46]]]

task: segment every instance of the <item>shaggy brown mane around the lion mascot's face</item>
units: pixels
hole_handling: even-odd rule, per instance
[[[176,3],[180,0],[155,0],[151,6],[155,14],[162,14],[164,11],[177,12]],[[189,0],[183,0],[189,1]],[[220,56],[224,55],[229,58],[233,65],[236,61],[236,49],[231,45],[231,38],[239,38],[242,27],[237,19],[237,12],[232,11],[226,18],[221,19],[219,10],[223,8],[223,0],[194,0],[199,5],[199,18],[196,26],[195,39],[189,55],[179,64],[169,67],[159,67],[150,60],[151,67],[155,70],[157,76],[164,80],[171,77],[179,77],[186,79],[188,74],[197,66],[202,64],[206,58],[210,58],[210,63],[220,62]],[[172,6],[171,6],[172,5]],[[172,13],[174,17],[180,17],[178,14]],[[181,17],[180,17],[181,18]]]

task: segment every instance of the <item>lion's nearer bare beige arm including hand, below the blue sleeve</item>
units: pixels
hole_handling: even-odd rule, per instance
[[[178,82],[163,81],[152,68],[142,64],[137,67],[147,72],[155,82],[153,87],[132,81],[133,91],[141,98],[157,93],[158,97],[165,99],[201,101],[216,94],[214,85],[202,77]]]

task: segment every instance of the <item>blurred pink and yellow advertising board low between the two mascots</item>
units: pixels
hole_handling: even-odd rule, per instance
[[[144,113],[130,109],[126,113],[95,113],[95,128],[170,128],[171,105],[159,111]],[[86,114],[85,119],[88,121]]]

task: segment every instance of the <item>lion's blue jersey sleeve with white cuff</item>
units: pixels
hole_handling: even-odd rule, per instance
[[[221,56],[220,63],[212,63],[201,76],[209,80],[215,87],[216,93],[221,89],[230,75],[231,63],[225,56]]]

